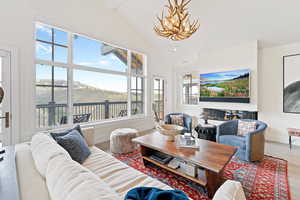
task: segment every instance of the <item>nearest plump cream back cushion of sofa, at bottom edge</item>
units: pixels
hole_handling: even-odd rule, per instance
[[[46,183],[53,200],[118,200],[118,194],[73,160],[57,156],[49,162]]]

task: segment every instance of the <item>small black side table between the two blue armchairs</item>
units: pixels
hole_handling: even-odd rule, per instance
[[[199,124],[195,131],[198,133],[198,137],[204,140],[216,141],[217,127],[213,124]]]

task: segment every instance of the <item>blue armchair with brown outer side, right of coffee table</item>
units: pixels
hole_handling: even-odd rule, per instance
[[[267,124],[258,120],[243,121],[255,121],[256,130],[245,133],[245,136],[238,136],[238,120],[227,121],[217,127],[217,142],[238,147],[236,155],[242,160],[261,161],[264,157],[264,130]]]

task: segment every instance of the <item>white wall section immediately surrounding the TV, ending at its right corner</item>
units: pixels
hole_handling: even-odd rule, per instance
[[[199,116],[202,108],[216,108],[216,109],[240,109],[256,111],[258,105],[257,94],[257,55],[258,47],[257,41],[248,42],[242,45],[231,48],[207,52],[199,54],[198,59],[188,66],[178,66],[173,74],[173,84],[176,84],[174,90],[174,110],[189,113],[191,115]],[[220,102],[200,102],[199,105],[183,105],[181,99],[181,77],[186,72],[193,72],[196,74],[222,72],[237,69],[251,69],[251,99],[249,104],[245,103],[220,103]]]

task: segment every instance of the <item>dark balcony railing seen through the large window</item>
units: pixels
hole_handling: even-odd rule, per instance
[[[127,116],[128,103],[126,101],[104,101],[92,103],[73,104],[73,122],[82,123],[89,121],[99,121]],[[134,101],[131,103],[131,113],[143,113],[143,102]],[[53,127],[67,123],[68,105],[48,104],[36,105],[37,127]]]

